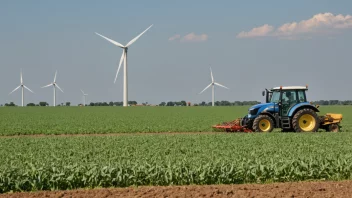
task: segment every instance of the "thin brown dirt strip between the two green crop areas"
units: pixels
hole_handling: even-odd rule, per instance
[[[32,135],[0,135],[0,138],[18,138],[18,137],[86,137],[86,136],[127,136],[127,135],[204,135],[220,134],[226,132],[131,132],[131,133],[85,133],[85,134],[32,134]]]

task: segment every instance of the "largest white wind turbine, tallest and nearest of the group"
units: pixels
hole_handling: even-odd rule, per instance
[[[123,70],[124,70],[124,73],[123,73],[123,106],[126,107],[128,106],[128,85],[127,85],[127,51],[128,51],[128,47],[130,45],[132,45],[132,43],[134,43],[135,41],[137,41],[137,39],[139,39],[139,37],[141,37],[147,30],[149,30],[149,28],[151,28],[153,25],[149,26],[146,30],[144,30],[142,33],[140,33],[137,37],[135,37],[134,39],[132,39],[130,42],[128,42],[126,45],[122,45],[121,43],[118,43],[112,39],[109,39],[99,33],[95,33],[99,36],[101,36],[102,38],[108,40],[109,42],[111,42],[112,44],[120,47],[123,49],[122,51],[122,56],[121,56],[121,59],[120,59],[120,63],[119,63],[119,67],[117,68],[117,72],[116,72],[116,76],[115,76],[115,80],[114,80],[114,83],[116,83],[116,79],[117,79],[117,75],[119,74],[119,71],[120,71],[120,67],[121,67],[121,64],[122,64],[122,61],[124,62],[124,67],[123,67]]]

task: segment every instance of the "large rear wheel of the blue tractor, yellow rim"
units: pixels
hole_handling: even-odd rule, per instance
[[[320,119],[312,109],[299,110],[292,119],[292,127],[296,132],[316,132],[319,125]]]

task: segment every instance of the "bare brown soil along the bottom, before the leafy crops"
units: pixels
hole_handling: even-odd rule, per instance
[[[37,197],[352,197],[352,181],[295,182],[207,186],[150,186],[91,190],[40,191],[0,194],[0,198]]]

